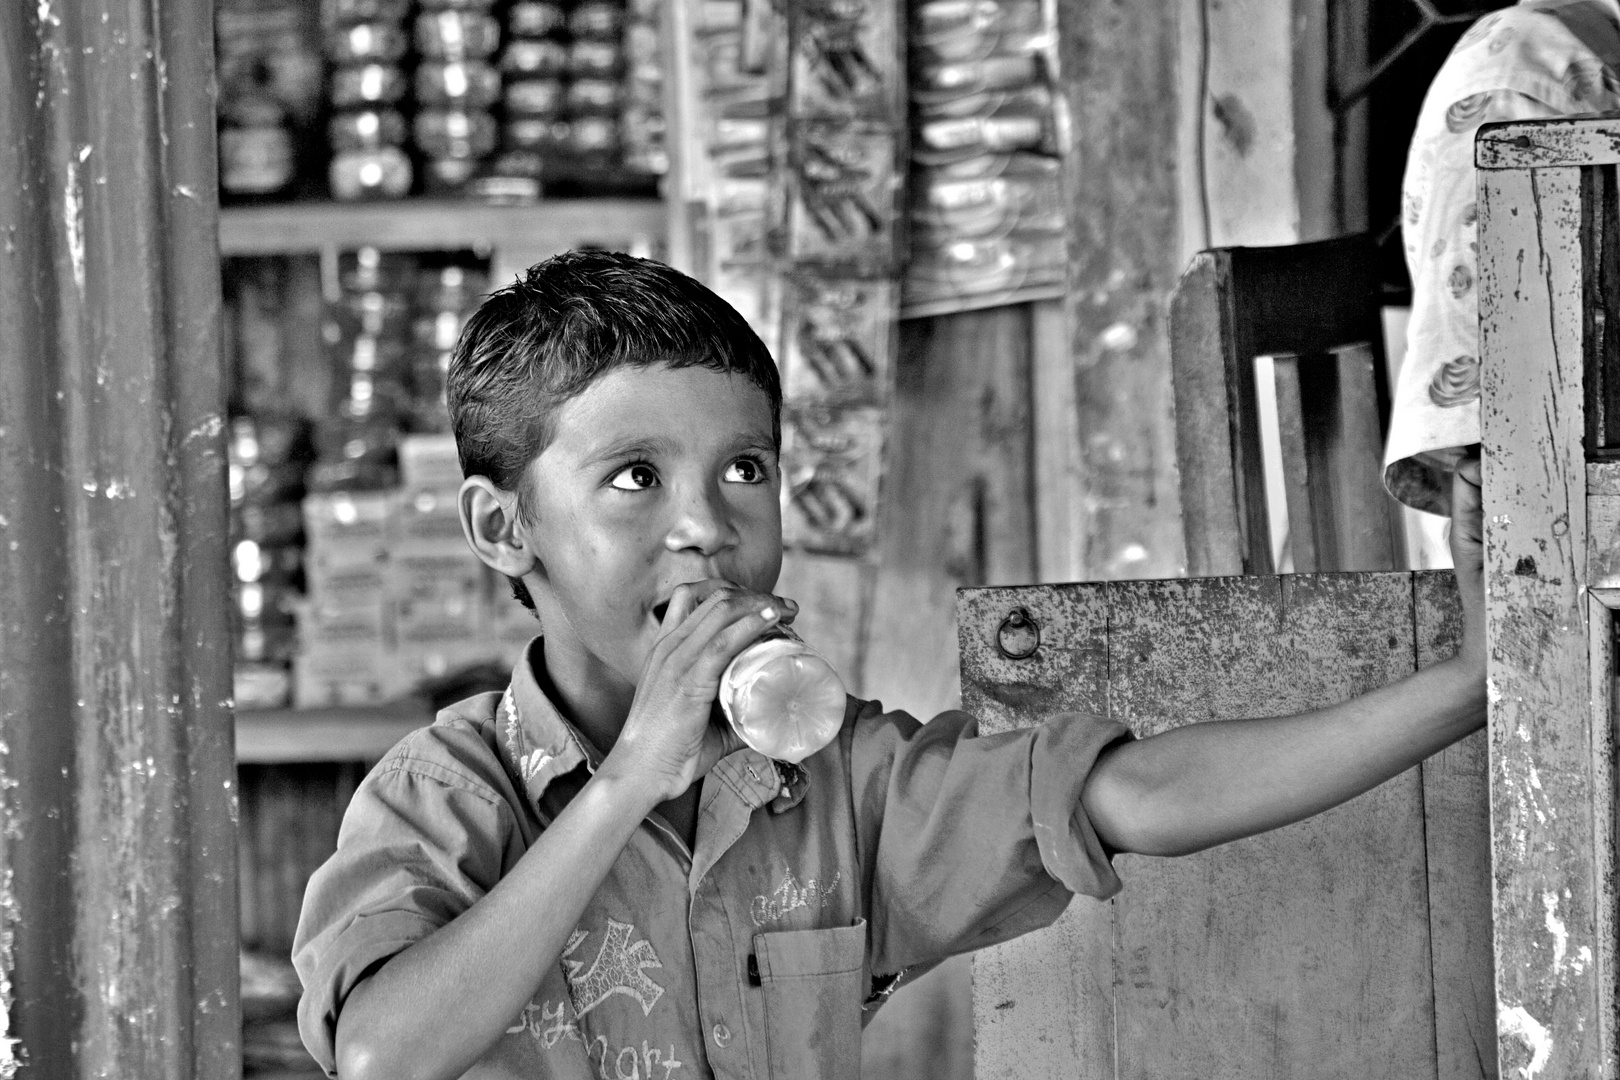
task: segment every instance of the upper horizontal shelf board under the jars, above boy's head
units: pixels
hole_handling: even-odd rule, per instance
[[[624,249],[663,241],[658,199],[554,199],[533,206],[465,201],[285,202],[230,207],[219,217],[220,254],[298,254],[337,248],[491,251],[518,241],[548,253],[583,244]]]

